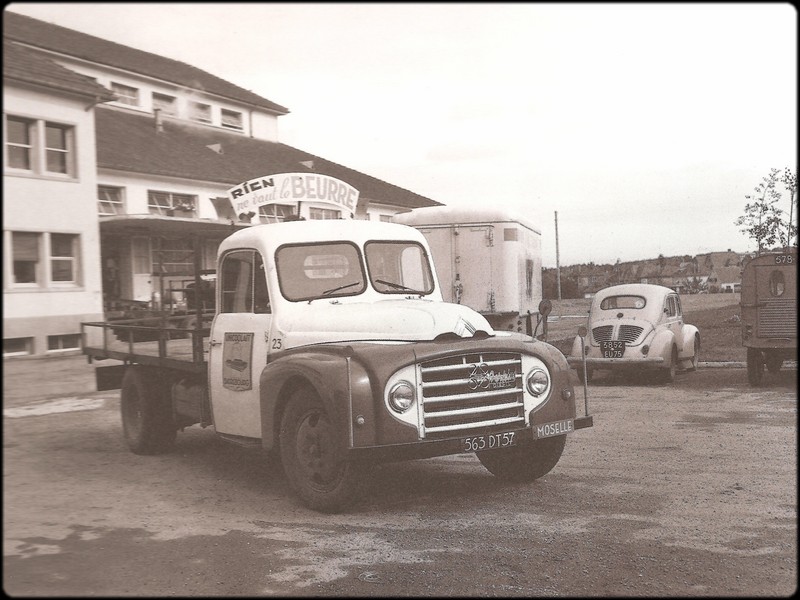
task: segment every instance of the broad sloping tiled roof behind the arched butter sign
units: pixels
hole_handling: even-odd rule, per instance
[[[365,200],[406,208],[439,204],[286,144],[221,129],[164,118],[163,131],[158,132],[152,116],[98,107],[95,130],[97,166],[101,169],[193,179],[229,187],[276,173],[320,173],[349,183]]]

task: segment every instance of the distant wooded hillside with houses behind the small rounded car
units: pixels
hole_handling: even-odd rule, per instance
[[[561,297],[584,298],[610,285],[654,283],[679,293],[717,293],[741,284],[742,263],[752,254],[726,250],[696,256],[663,256],[630,262],[561,267]],[[554,268],[542,269],[542,295],[558,297]]]

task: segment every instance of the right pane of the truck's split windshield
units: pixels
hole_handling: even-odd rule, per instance
[[[425,249],[417,242],[367,242],[369,279],[381,294],[430,294],[433,275]]]

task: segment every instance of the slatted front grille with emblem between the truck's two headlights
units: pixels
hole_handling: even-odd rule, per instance
[[[424,437],[469,436],[525,424],[519,354],[461,354],[420,368]]]

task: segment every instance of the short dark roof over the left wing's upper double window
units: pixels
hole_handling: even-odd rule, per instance
[[[3,81],[30,85],[78,94],[107,102],[116,96],[102,85],[69,69],[65,69],[42,54],[18,44],[3,40]]]

